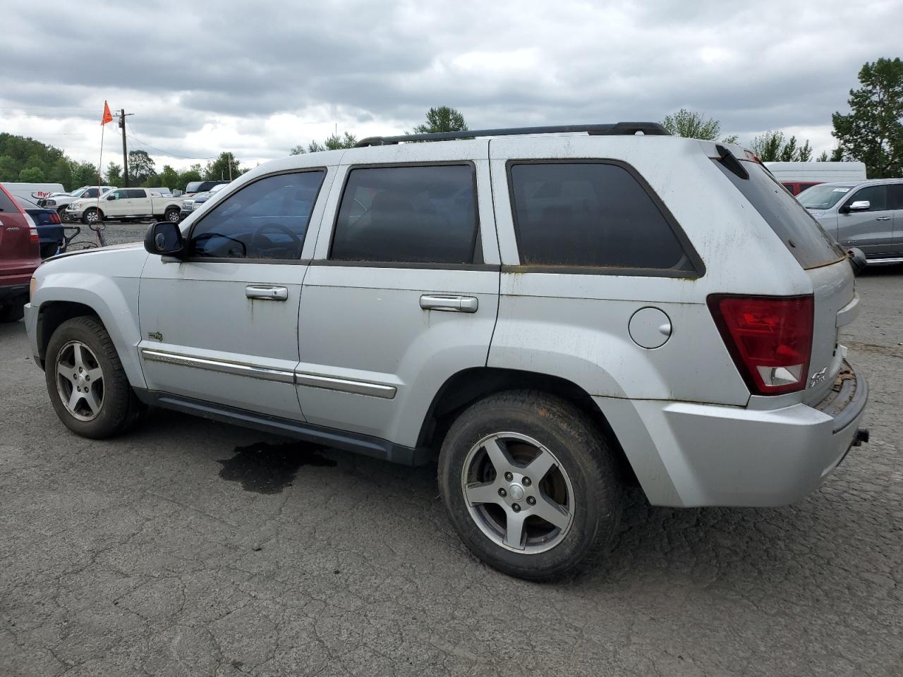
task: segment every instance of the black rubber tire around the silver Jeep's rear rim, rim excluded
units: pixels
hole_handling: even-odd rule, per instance
[[[553,404],[556,403],[553,401]],[[569,406],[536,407],[490,398],[461,414],[442,444],[439,485],[455,530],[472,552],[490,566],[529,580],[546,580],[578,568],[594,550],[604,548],[620,515],[621,488],[599,431]],[[545,412],[543,410],[545,409]],[[541,413],[543,412],[543,413]],[[551,450],[571,479],[574,517],[563,542],[535,554],[508,551],[484,534],[470,516],[461,490],[468,451],[495,432],[519,432]]]

